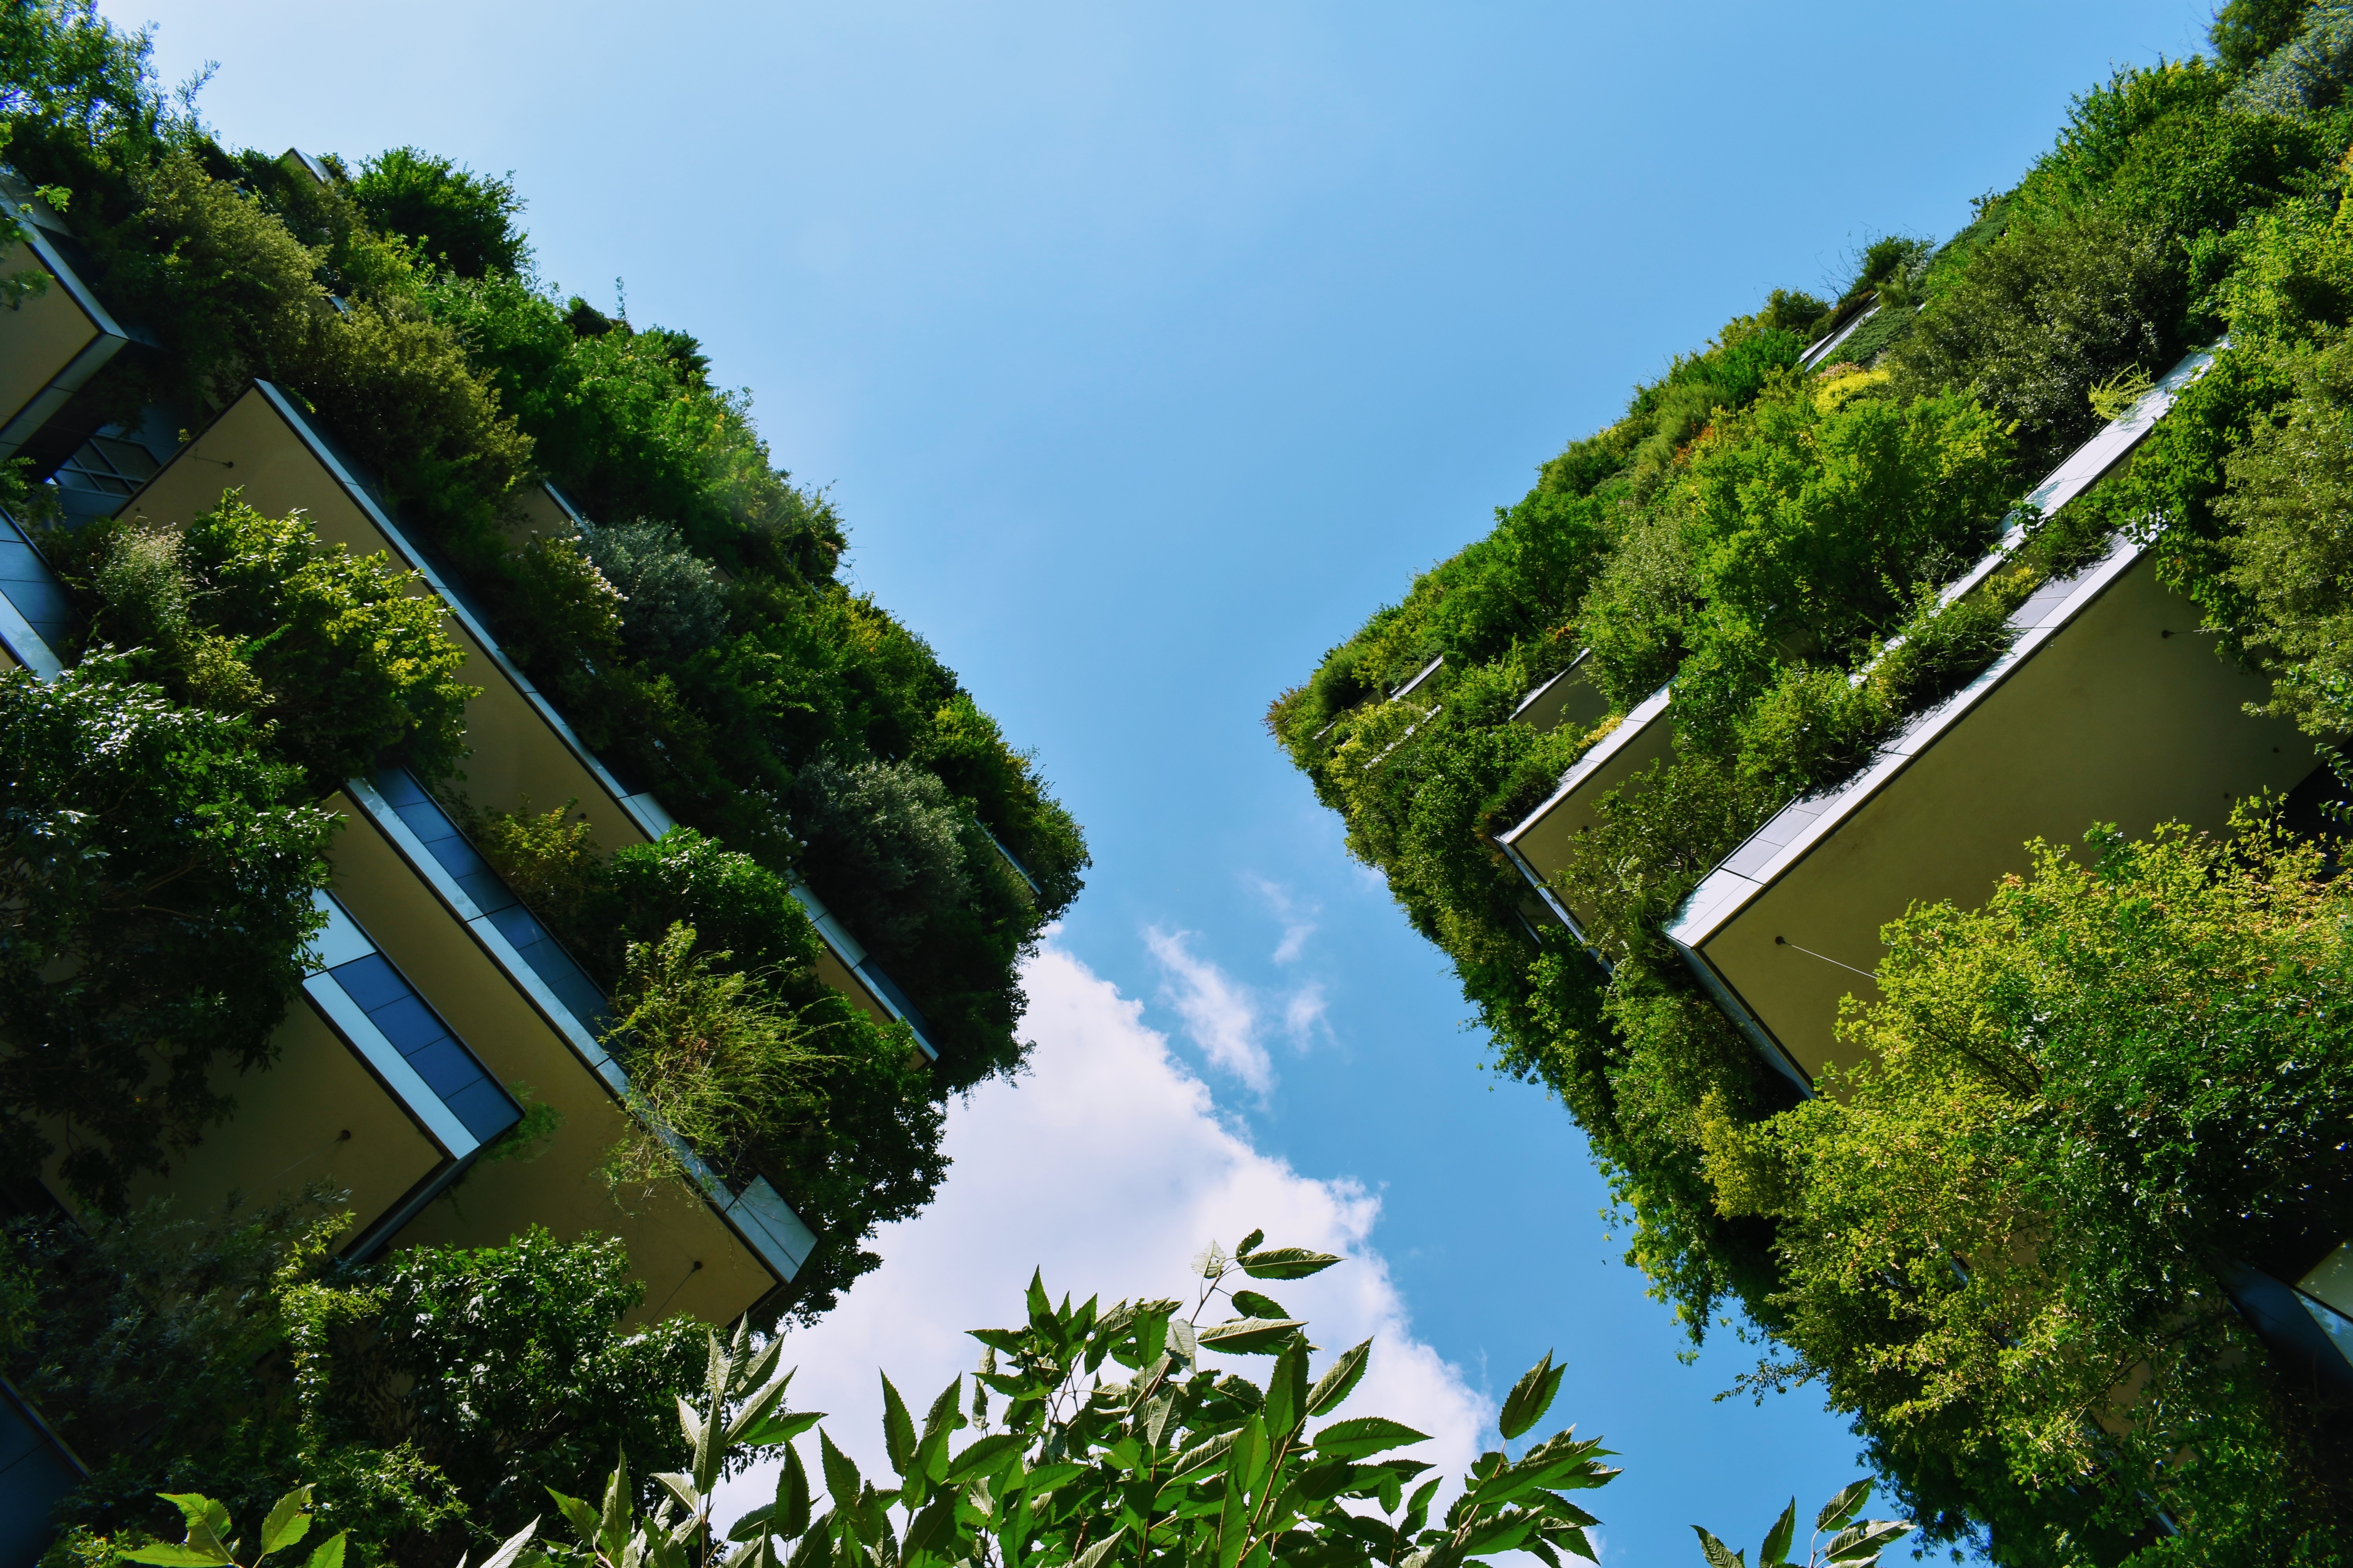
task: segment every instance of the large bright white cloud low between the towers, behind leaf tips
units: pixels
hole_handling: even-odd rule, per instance
[[[1181,938],[1174,943],[1181,954]],[[1158,947],[1155,947],[1158,952]],[[1167,959],[1162,959],[1167,961]],[[1459,1476],[1492,1429],[1494,1406],[1461,1368],[1414,1340],[1388,1265],[1369,1246],[1381,1204],[1346,1178],[1318,1180],[1273,1159],[1217,1114],[1209,1088],[1120,997],[1047,945],[1021,973],[1035,1039],[1019,1084],[986,1084],[951,1112],[955,1168],[922,1215],[878,1239],[882,1267],[814,1328],[786,1338],[793,1406],[831,1410],[826,1429],[868,1476],[887,1476],[880,1439],[887,1368],[922,1408],[979,1345],[967,1328],[1021,1321],[1031,1267],[1059,1300],[1186,1295],[1188,1260],[1254,1227],[1268,1246],[1311,1246],[1348,1262],[1273,1286],[1329,1354],[1374,1338],[1348,1415],[1388,1415],[1431,1434],[1407,1450]],[[1264,1363],[1242,1375],[1264,1380]],[[969,1399],[969,1380],[967,1380]],[[805,1460],[812,1455],[802,1455]],[[774,1467],[727,1483],[722,1516],[774,1495]]]

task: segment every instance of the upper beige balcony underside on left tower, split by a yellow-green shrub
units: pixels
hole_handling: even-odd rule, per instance
[[[132,496],[127,512],[184,524],[216,508],[221,491],[233,487],[242,487],[247,505],[271,517],[301,508],[320,538],[348,545],[358,555],[388,552],[395,564],[405,564],[384,531],[256,390],[231,404],[195,444]],[[454,616],[442,618],[442,630],[466,649],[461,679],[482,689],[482,696],[466,708],[466,743],[473,748],[464,762],[466,797],[482,811],[518,811],[525,802],[536,811],[553,811],[576,799],[598,846],[612,851],[642,844],[645,832],[638,820],[598,783],[473,635]]]

